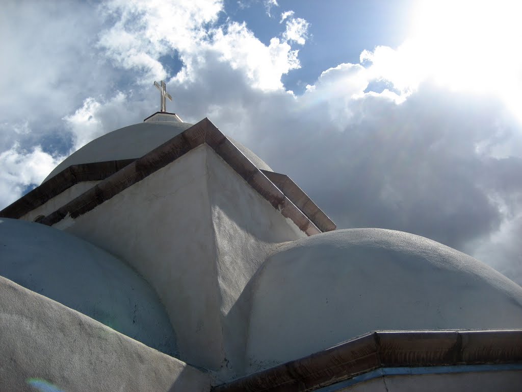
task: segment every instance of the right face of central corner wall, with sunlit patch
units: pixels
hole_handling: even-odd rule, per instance
[[[226,365],[242,375],[251,289],[245,286],[274,245],[306,237],[291,220],[207,148],[211,225],[217,247],[217,280],[221,296]],[[225,375],[227,377],[227,375]]]

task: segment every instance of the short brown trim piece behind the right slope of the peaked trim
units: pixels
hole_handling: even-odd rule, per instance
[[[310,197],[290,177],[269,170],[261,170],[284,195],[305,214],[319,230],[330,232],[336,224],[321,210]]]

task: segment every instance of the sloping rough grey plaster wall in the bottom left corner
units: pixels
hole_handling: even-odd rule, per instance
[[[2,277],[0,331],[3,392],[38,381],[65,392],[210,389],[207,374]]]

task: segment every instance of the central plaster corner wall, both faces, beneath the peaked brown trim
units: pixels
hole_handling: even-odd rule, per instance
[[[56,226],[129,262],[165,304],[181,358],[216,370],[228,352],[244,359],[247,310],[231,309],[268,248],[305,236],[207,145]]]

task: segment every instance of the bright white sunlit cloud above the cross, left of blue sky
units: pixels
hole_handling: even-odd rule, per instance
[[[277,6],[277,2],[265,5]],[[304,44],[308,26],[301,18],[288,20],[283,40],[272,38],[267,46],[245,23],[214,26],[222,9],[222,2],[215,0],[181,2],[176,7],[164,2],[111,1],[100,9],[105,18],[116,21],[100,33],[99,47],[117,66],[137,73],[138,83],[144,85],[174,76],[167,75],[159,62],[162,55],[177,53],[183,68],[176,77],[190,80],[195,63],[215,51],[232,67],[242,68],[257,88],[282,88],[281,75],[300,66],[298,51],[288,41]]]

